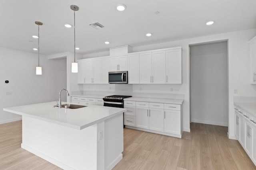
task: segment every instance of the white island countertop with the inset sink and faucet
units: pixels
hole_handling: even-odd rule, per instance
[[[62,102],[66,104],[66,102]],[[56,102],[4,108],[4,111],[41,119],[74,129],[84,129],[126,111],[124,108],[87,106],[79,109],[53,107]]]

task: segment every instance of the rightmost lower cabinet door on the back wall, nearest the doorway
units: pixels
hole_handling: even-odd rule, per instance
[[[164,110],[164,132],[180,135],[180,111]]]

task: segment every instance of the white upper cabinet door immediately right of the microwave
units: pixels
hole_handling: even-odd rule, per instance
[[[139,54],[128,55],[128,83],[140,83],[140,57]]]

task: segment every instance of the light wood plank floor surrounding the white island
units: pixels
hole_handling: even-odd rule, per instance
[[[20,148],[22,121],[0,125],[0,170],[61,170]],[[227,127],[191,124],[182,139],[124,128],[123,159],[113,170],[256,170]]]

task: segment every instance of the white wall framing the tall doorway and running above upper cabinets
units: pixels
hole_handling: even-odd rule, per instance
[[[250,70],[250,60],[249,60],[249,44],[248,41],[256,35],[256,29],[249,29],[244,31],[236,31],[230,33],[222,33],[216,35],[208,35],[204,37],[196,37],[191,39],[183,39],[179,41],[169,41],[164,43],[157,43],[152,45],[144,45],[133,47],[133,52],[146,51],[153,49],[162,49],[168,47],[182,46],[182,85],[164,85],[166,86],[166,93],[170,93],[171,88],[174,94],[184,94],[184,104],[183,104],[183,129],[185,131],[190,131],[190,106],[189,106],[189,45],[228,40],[228,64],[229,64],[229,113],[228,113],[228,123],[229,123],[229,135],[234,137],[234,106],[233,106],[233,91],[238,89],[238,94],[236,96],[256,96],[255,85],[249,84],[249,70]],[[84,58],[91,57],[101,57],[109,55],[109,51],[86,54]],[[102,85],[104,86],[104,85]],[[134,85],[136,89],[140,89],[143,93],[144,89],[148,85],[138,84]],[[162,88],[162,85],[161,85]],[[147,90],[148,91],[148,90]]]

